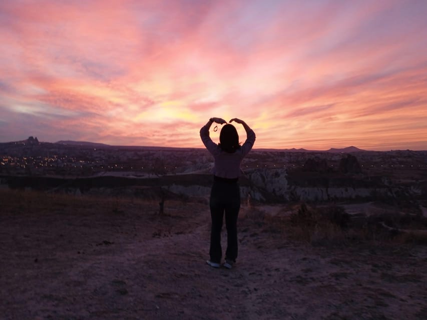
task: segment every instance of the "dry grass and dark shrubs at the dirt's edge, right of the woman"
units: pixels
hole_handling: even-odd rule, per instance
[[[367,217],[363,223],[353,223],[350,215],[337,205],[308,206],[305,203],[287,207],[284,211],[292,211],[289,215],[270,216],[260,208],[252,207],[245,214],[247,223],[257,225],[264,231],[280,233],[290,240],[302,241],[312,245],[350,246],[367,245],[399,245],[427,244],[427,229],[422,217],[417,223],[412,217],[408,223],[407,216],[397,217],[390,213],[381,216]],[[393,221],[393,228],[381,226],[379,221]],[[406,223],[406,224],[402,224]],[[421,229],[404,231],[394,226],[411,226]]]

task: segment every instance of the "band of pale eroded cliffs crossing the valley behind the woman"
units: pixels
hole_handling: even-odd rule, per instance
[[[212,176],[181,174],[156,178],[97,176],[77,179],[4,176],[0,179],[0,184],[11,188],[32,188],[74,194],[153,198],[167,194],[169,198],[197,197],[207,200],[210,195]],[[422,181],[398,183],[384,176],[349,175],[337,172],[316,173],[303,170],[288,172],[285,168],[247,170],[240,178],[239,184],[242,201],[251,199],[266,203],[427,198],[427,188]]]

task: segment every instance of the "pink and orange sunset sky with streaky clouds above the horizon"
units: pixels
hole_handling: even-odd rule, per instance
[[[3,0],[0,142],[203,147],[216,116],[258,148],[425,150],[426,16],[425,0]]]

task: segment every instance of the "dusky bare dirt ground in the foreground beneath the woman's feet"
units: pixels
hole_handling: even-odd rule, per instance
[[[214,269],[207,204],[0,199],[1,319],[427,319],[425,245],[313,246],[242,207]]]

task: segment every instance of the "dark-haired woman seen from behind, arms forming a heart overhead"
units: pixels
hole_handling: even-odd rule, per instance
[[[231,122],[242,124],[246,131],[246,141],[243,145],[239,143],[239,134]],[[212,123],[225,125],[219,135],[219,143],[216,144],[209,136],[209,128]],[[248,154],[255,142],[255,132],[238,118],[232,118],[230,123],[224,119],[213,117],[200,129],[200,137],[203,144],[214,157],[213,184],[209,199],[211,211],[211,237],[209,256],[206,261],[212,267],[221,266],[221,228],[225,213],[225,224],[227,229],[227,249],[223,266],[231,269],[236,262],[237,244],[237,216],[240,210],[240,187],[238,179],[240,176],[240,163]]]

